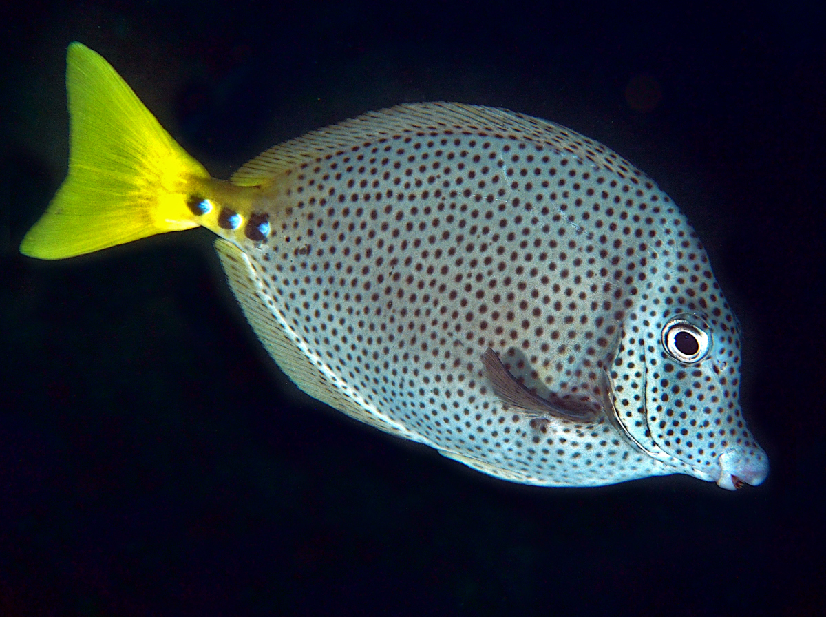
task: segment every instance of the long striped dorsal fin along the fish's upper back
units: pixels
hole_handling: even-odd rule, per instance
[[[425,102],[406,103],[368,112],[274,145],[244,164],[232,175],[230,181],[244,186],[258,186],[307,159],[349,150],[387,139],[391,135],[446,130],[500,136],[519,135],[523,139],[527,137],[551,145],[560,154],[567,152],[580,160],[589,160],[620,176],[629,173],[643,176],[628,161],[604,145],[564,126],[496,107]]]

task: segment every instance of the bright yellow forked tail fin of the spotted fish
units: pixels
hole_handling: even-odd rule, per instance
[[[69,174],[21,253],[63,259],[197,226],[187,198],[207,170],[102,56],[75,42],[66,64]]]

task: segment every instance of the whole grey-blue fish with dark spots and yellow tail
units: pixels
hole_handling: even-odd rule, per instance
[[[491,477],[757,486],[741,343],[695,230],[605,145],[463,103],[368,112],[212,178],[69,45],[69,172],[21,242],[66,259],[203,226],[304,392]]]

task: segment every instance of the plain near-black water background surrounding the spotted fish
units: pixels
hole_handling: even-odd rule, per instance
[[[826,16],[668,4],[3,7],[0,615],[826,614]],[[619,151],[742,321],[767,482],[530,488],[359,425],[274,368],[205,230],[22,258],[66,169],[71,40],[219,177],[405,101]]]

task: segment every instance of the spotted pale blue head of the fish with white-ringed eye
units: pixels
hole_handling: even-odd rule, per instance
[[[653,458],[731,491],[766,479],[767,455],[740,408],[739,329],[724,302],[632,316],[610,377],[616,419]]]

